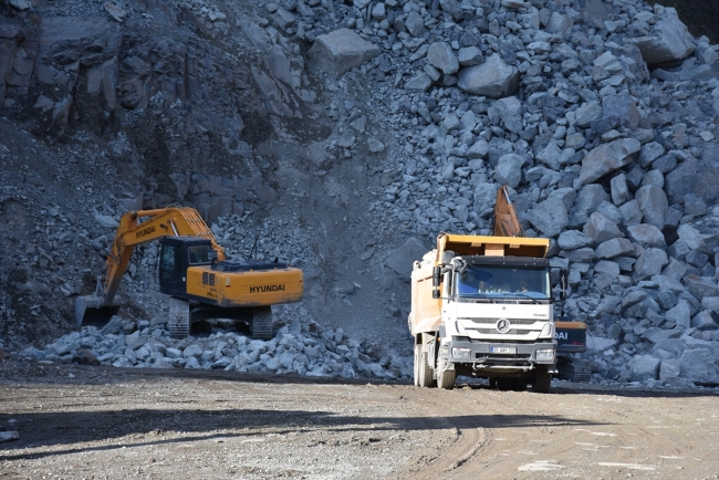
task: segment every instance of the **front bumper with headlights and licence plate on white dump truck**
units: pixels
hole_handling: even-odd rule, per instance
[[[523,369],[534,365],[554,365],[556,344],[538,343],[492,343],[451,340],[442,342],[439,356],[449,364],[470,364],[475,371]]]

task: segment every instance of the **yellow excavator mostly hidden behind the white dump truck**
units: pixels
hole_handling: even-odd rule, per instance
[[[497,190],[494,202],[494,237],[524,237],[524,229],[517,218],[514,206],[509,199],[509,189],[501,186]],[[562,291],[566,291],[566,276],[562,275]],[[554,322],[554,336],[556,338],[556,369],[558,378],[570,382],[588,382],[592,375],[590,363],[571,354],[586,352],[586,323],[575,322],[562,313]]]

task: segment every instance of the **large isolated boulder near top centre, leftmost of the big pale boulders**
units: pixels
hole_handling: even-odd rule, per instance
[[[337,79],[379,54],[379,49],[350,29],[320,35],[309,56],[327,75]]]

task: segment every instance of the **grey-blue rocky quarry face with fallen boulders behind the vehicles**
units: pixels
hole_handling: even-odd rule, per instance
[[[596,378],[719,383],[719,53],[673,9],[2,8],[6,343],[69,328],[118,215],[179,201],[231,253],[259,238],[301,267],[316,321],[402,347],[411,261],[439,231],[488,233],[509,185],[570,270]],[[153,258],[128,319],[161,311]]]

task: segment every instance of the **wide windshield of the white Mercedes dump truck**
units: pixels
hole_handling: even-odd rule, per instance
[[[456,279],[458,298],[550,300],[552,293],[549,269],[467,265]]]

